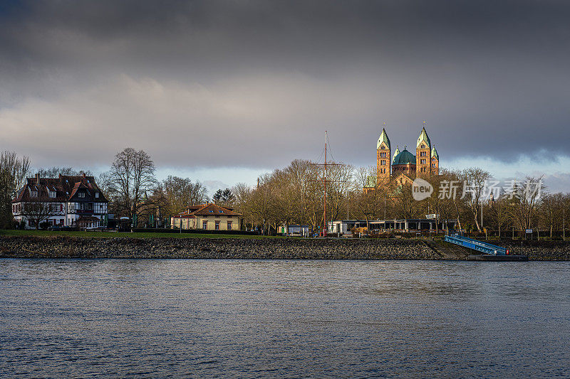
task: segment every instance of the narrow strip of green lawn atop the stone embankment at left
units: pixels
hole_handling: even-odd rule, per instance
[[[266,235],[233,235],[233,234],[202,234],[202,233],[128,233],[128,232],[54,232],[51,230],[0,230],[0,235],[36,235],[66,236],[66,237],[130,237],[130,238],[284,238]],[[289,237],[291,238],[291,237]]]

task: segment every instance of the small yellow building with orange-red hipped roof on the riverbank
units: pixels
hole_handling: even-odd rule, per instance
[[[191,205],[170,218],[172,229],[240,230],[242,214],[214,203]]]

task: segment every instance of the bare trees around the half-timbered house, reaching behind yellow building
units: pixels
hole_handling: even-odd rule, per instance
[[[155,171],[155,163],[146,151],[126,148],[116,154],[108,171],[100,174],[96,180],[109,201],[108,213],[114,214],[117,219],[126,217],[135,226],[164,226],[171,215],[182,212],[188,205],[209,201],[207,188],[201,182],[178,176],[168,176],[160,181]],[[26,177],[35,174],[42,178],[57,178],[60,174],[93,175],[90,171],[76,171],[71,167],[32,171],[28,157],[4,151],[0,154],[0,228],[14,228],[11,201],[26,183]],[[222,195],[228,201],[232,199],[224,191]],[[55,214],[55,210],[41,196],[27,204],[26,210],[28,218],[35,220],[36,228]]]

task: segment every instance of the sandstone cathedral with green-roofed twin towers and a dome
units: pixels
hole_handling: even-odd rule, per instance
[[[390,161],[391,158],[391,161]],[[396,147],[394,154],[390,146],[390,139],[385,129],[378,138],[376,145],[376,181],[385,183],[390,180],[411,182],[413,178],[437,175],[440,171],[440,156],[432,146],[430,137],[427,137],[425,127],[420,132],[418,142],[415,144],[415,156],[408,151],[407,146],[400,151]]]

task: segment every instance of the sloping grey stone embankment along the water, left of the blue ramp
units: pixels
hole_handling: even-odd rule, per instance
[[[0,237],[0,257],[444,259],[420,240],[296,238]]]

